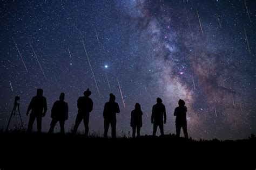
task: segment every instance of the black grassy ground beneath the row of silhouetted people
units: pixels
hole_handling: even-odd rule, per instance
[[[80,134],[0,133],[0,169],[255,169],[256,138],[185,140],[164,137],[103,139]]]

